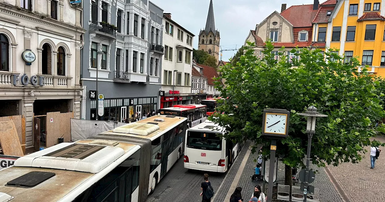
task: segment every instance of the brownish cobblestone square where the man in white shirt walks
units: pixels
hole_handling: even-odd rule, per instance
[[[377,137],[376,140],[385,142],[385,137]],[[385,148],[375,162],[375,169],[370,169],[370,147],[365,148],[369,152],[364,154],[358,164],[342,163],[338,166],[329,166],[331,175],[350,202],[364,200],[370,202],[385,201]]]

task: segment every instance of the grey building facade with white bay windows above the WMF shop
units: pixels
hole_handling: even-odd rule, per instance
[[[83,4],[87,32],[81,118],[97,118],[97,100],[90,94],[95,90],[104,95],[104,114],[98,120],[123,121],[136,112],[143,117],[159,109],[163,10],[147,0],[84,0]]]

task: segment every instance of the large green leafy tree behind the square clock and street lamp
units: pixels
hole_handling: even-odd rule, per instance
[[[290,62],[281,48],[281,60],[271,53],[273,45],[266,42],[264,58],[258,60],[249,43],[246,51],[234,64],[221,68],[226,86],[216,81],[216,88],[226,98],[209,119],[228,125],[226,139],[246,138],[270,148],[270,141],[261,135],[262,115],[266,108],[287,109],[290,114],[289,136],[277,141],[277,155],[286,165],[286,184],[291,185],[291,167],[305,167],[307,148],[306,119],[299,112],[314,105],[322,114],[316,124],[316,134],[311,145],[311,162],[320,167],[340,162],[359,162],[364,147],[371,144],[377,130],[375,124],[384,115],[378,92],[381,83],[369,75],[366,68],[358,72],[357,59],[344,63],[336,53],[307,48],[291,52],[300,57]],[[299,53],[296,53],[296,52]],[[294,67],[295,66],[295,67]],[[221,100],[222,101],[222,100]],[[219,101],[219,102],[221,102]],[[259,147],[258,147],[259,148]],[[263,150],[267,158],[269,149]]]

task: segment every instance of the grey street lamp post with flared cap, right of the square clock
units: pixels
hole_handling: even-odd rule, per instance
[[[308,134],[308,152],[306,156],[306,172],[305,172],[305,182],[304,182],[305,189],[303,190],[303,197],[304,197],[303,202],[307,202],[311,139],[315,134],[315,122],[317,117],[327,117],[328,115],[318,113],[317,108],[315,108],[314,106],[310,106],[306,112],[298,113],[298,115],[305,116],[308,118],[307,125],[306,125],[306,133]]]

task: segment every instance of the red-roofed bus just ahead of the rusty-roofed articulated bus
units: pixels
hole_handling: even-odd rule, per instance
[[[206,117],[206,105],[174,105],[160,109],[161,115],[175,115],[187,118],[187,128],[204,122]]]

